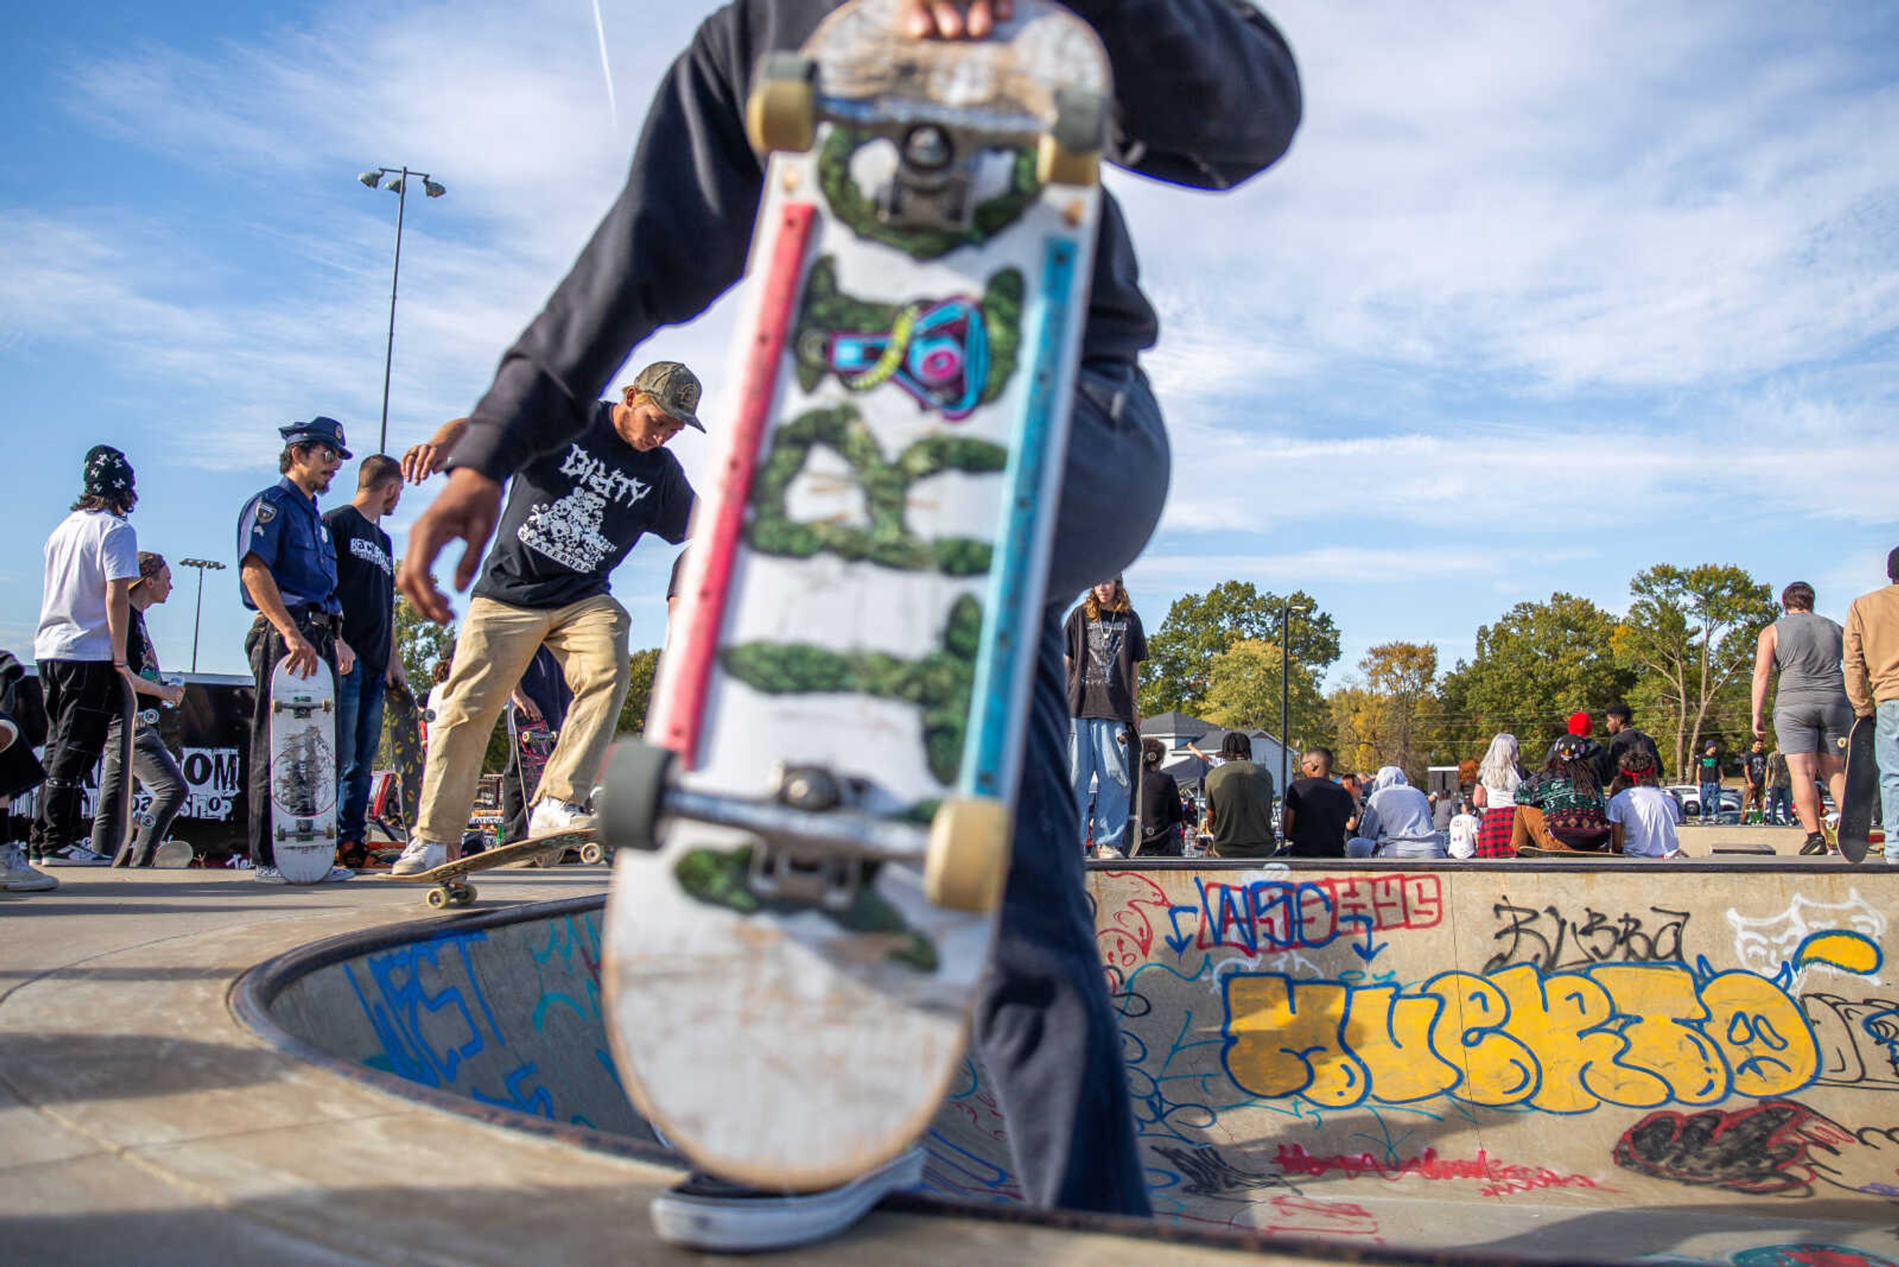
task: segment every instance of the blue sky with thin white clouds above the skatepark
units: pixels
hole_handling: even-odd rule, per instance
[[[325,412],[374,446],[395,198],[365,167],[448,186],[410,201],[391,450],[467,412],[710,8],[600,0],[611,101],[591,0],[9,15],[0,646],[30,648],[91,444],[137,465],[148,549],[226,562],[279,425]],[[1344,634],[1337,682],[1390,638],[1449,667],[1555,589],[1620,610],[1654,562],[1808,579],[1836,617],[1882,581],[1899,8],[1265,8],[1305,74],[1291,156],[1223,196],[1111,179],[1164,319],[1174,490],[1128,572],[1149,627],[1227,577],[1303,587]],[[716,420],[727,340],[720,304],[629,374],[689,361]],[[437,486],[387,522],[399,551]],[[613,577],[636,646],[668,566],[649,541]],[[169,667],[182,581],[152,617]],[[243,671],[245,625],[213,576],[199,667]]]

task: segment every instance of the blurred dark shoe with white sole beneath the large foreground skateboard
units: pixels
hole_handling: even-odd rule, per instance
[[[653,1231],[693,1250],[760,1252],[824,1240],[849,1229],[889,1193],[923,1182],[923,1149],[822,1193],[761,1193],[693,1174],[653,1199]]]

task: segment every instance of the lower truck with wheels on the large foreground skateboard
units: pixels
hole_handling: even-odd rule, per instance
[[[712,796],[672,783],[676,754],[638,739],[608,752],[600,836],[610,845],[655,851],[661,819],[695,819],[754,838],[752,885],[760,897],[849,906],[866,862],[923,868],[938,906],[991,910],[1008,868],[1010,821],[1001,802],[950,800],[929,828],[881,819],[862,807],[868,785],[820,766],[780,766],[765,800]]]

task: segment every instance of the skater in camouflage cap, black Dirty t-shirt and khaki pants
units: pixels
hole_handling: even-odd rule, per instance
[[[435,870],[448,860],[448,842],[461,840],[488,735],[543,644],[560,661],[573,701],[541,771],[528,838],[592,826],[589,800],[630,680],[632,621],[608,593],[608,577],[648,532],[674,545],[686,539],[693,486],[667,443],[686,427],[705,431],[699,393],[689,369],[655,361],[619,401],[592,401],[577,418],[573,410],[549,418],[534,444],[511,450],[507,460],[522,465],[507,471],[515,477],[507,511],[456,634],[454,669],[429,726],[422,813],[395,862],[397,876]],[[480,410],[456,418],[403,454],[403,473],[420,482],[446,463],[454,473],[442,500],[456,505],[461,481],[475,475],[471,462],[494,462],[492,439]],[[499,482],[494,490],[499,500]],[[437,507],[423,522],[431,515]],[[418,530],[410,555],[420,551],[433,564],[441,538],[422,524]],[[494,520],[461,557],[465,577],[492,530]],[[441,591],[433,583],[416,587],[408,562],[403,576],[410,577],[403,585],[410,602],[429,619],[446,621]]]

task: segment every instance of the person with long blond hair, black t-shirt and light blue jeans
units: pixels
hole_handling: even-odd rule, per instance
[[[1098,857],[1119,857],[1128,838],[1128,800],[1134,794],[1134,745],[1141,729],[1138,665],[1147,659],[1147,633],[1119,576],[1088,591],[1069,612],[1063,633],[1069,786],[1081,809],[1082,843],[1092,838]]]

